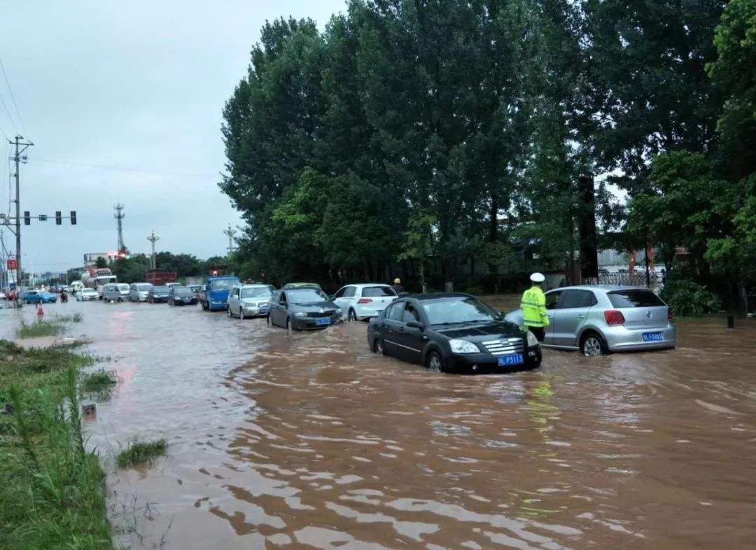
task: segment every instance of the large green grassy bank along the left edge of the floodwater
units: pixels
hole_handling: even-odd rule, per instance
[[[98,456],[84,447],[76,345],[0,340],[0,548],[112,550]]]

